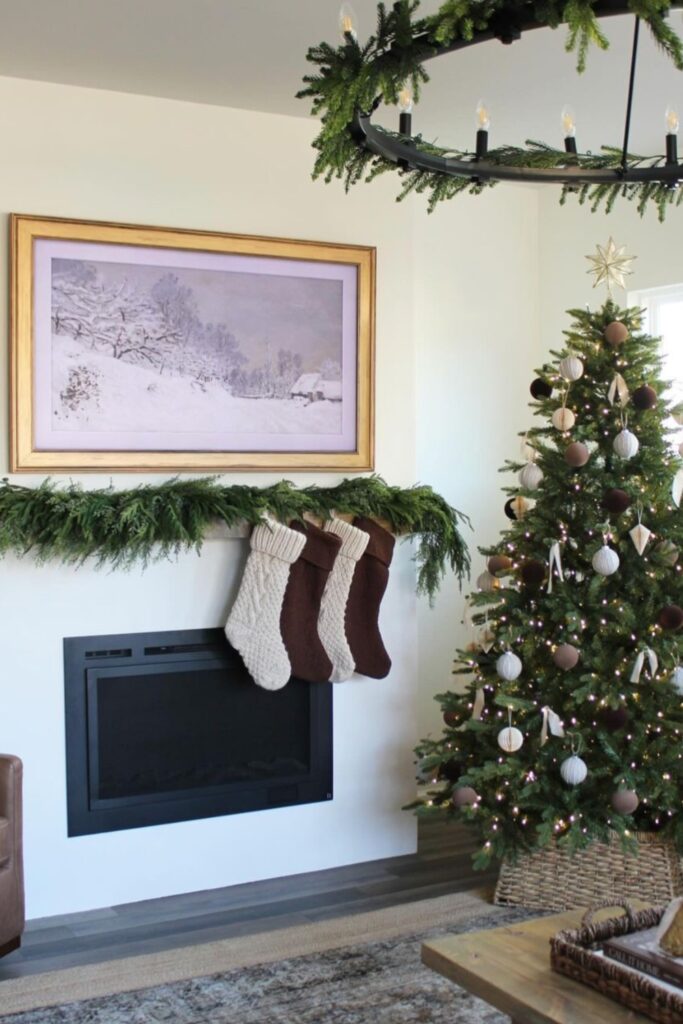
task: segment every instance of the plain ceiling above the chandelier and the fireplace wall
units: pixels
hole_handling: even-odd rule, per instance
[[[422,11],[439,0],[424,0]],[[361,38],[375,0],[354,0]],[[338,0],[0,0],[0,74],[194,102],[306,117],[294,98],[305,52],[337,38]],[[680,11],[673,15],[683,33]],[[473,144],[474,110],[492,111],[490,144],[541,138],[559,144],[560,111],[577,112],[580,150],[622,141],[632,18],[603,22],[611,47],[583,76],[564,51],[565,30],[528,33],[510,47],[473,47],[429,65],[414,130]],[[664,112],[683,115],[683,75],[641,33],[632,150],[664,148]],[[393,124],[390,113],[387,124]]]

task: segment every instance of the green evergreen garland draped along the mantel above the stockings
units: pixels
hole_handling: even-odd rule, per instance
[[[304,513],[329,519],[364,515],[384,519],[391,530],[417,539],[418,593],[430,600],[451,568],[462,582],[469,571],[467,546],[458,528],[469,520],[431,487],[391,487],[380,476],[342,480],[334,487],[224,486],[215,477],[172,479],[130,490],[57,488],[51,480],[27,487],[0,483],[0,554],[34,554],[39,562],[130,567],[135,563],[200,550],[216,522],[257,523],[264,512],[283,522]]]

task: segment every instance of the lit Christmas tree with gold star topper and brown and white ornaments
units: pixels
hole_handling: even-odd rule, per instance
[[[611,240],[589,258],[596,284],[624,285]],[[418,749],[432,785],[415,806],[470,822],[477,866],[553,840],[633,848],[638,830],[683,851],[681,410],[641,310],[609,294],[569,315],[531,385],[542,425],[505,467],[511,524],[480,549],[465,692],[437,696],[443,735]]]

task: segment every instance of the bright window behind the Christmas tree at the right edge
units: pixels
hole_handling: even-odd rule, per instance
[[[630,292],[629,306],[644,309],[643,331],[661,338],[664,378],[672,385],[667,400],[683,402],[683,284]],[[671,426],[676,427],[673,420]],[[683,442],[683,427],[676,430],[673,440]]]

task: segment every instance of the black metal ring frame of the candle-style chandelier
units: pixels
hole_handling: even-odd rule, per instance
[[[683,0],[672,0],[672,8],[683,7]],[[596,17],[610,17],[618,14],[632,13],[625,0],[601,0],[594,7]],[[547,28],[546,23],[533,19],[521,19],[505,13],[502,17],[481,32],[475,32],[471,39],[458,39],[447,45],[436,45],[427,34],[414,40],[414,54],[421,61],[443,56],[458,50],[467,49],[480,43],[498,39],[510,45],[521,38],[523,33],[533,29]],[[506,164],[486,160],[487,132],[479,129],[477,132],[476,150],[470,157],[444,156],[442,154],[421,150],[422,140],[411,134],[411,115],[400,115],[400,125],[397,134],[387,132],[372,123],[375,111],[383,101],[378,96],[372,110],[362,112],[356,110],[350,131],[357,145],[368,150],[384,160],[388,160],[403,170],[425,171],[431,174],[443,174],[455,178],[469,178],[473,181],[500,180],[531,182],[537,184],[562,184],[571,188],[582,185],[618,185],[645,184],[655,182],[669,188],[676,188],[683,181],[683,163],[679,162],[677,153],[677,136],[675,133],[666,135],[666,155],[663,157],[637,158],[637,164],[630,163],[629,139],[631,134],[631,115],[635,90],[636,65],[638,59],[638,40],[640,18],[636,16],[631,52],[631,69],[629,89],[626,102],[626,118],[624,124],[624,143],[622,159],[617,166],[587,167],[582,165],[582,155],[577,153],[573,139],[565,139],[566,162],[561,166],[533,167],[529,165]],[[383,54],[375,57],[382,61]],[[422,144],[424,144],[422,142]],[[586,155],[590,159],[591,155]],[[632,158],[633,159],[633,158]],[[643,166],[643,163],[646,166]]]

